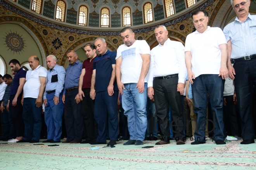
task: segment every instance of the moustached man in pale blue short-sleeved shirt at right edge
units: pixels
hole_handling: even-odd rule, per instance
[[[241,144],[254,143],[252,107],[253,88],[256,86],[256,15],[249,14],[250,3],[250,0],[231,0],[237,17],[223,30],[228,41],[229,77],[235,82],[242,120]]]

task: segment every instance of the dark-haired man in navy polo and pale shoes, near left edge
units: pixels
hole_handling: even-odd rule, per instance
[[[22,118],[23,107],[21,105],[21,98],[23,86],[26,82],[27,71],[21,68],[21,64],[17,59],[12,59],[9,62],[9,66],[14,72],[16,72],[16,75],[12,81],[12,88],[10,90],[10,100],[7,104],[9,105],[9,110],[16,129],[16,138],[9,142],[15,143],[22,140],[24,135],[24,122]]]

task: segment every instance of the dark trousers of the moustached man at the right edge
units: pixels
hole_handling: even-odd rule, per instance
[[[241,116],[243,140],[254,140],[253,90],[256,89],[256,59],[240,61],[234,64],[235,92]]]

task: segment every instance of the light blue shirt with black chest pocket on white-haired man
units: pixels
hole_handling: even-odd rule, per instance
[[[63,66],[55,65],[53,69],[47,71],[45,93],[43,99],[46,99],[47,91],[55,90],[55,96],[59,97],[64,87],[66,71]]]

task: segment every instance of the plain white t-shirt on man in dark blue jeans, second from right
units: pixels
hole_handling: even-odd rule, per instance
[[[192,72],[195,77],[202,74],[220,74],[221,44],[227,44],[227,40],[218,27],[208,26],[203,33],[195,31],[187,36],[185,51],[191,52]]]

